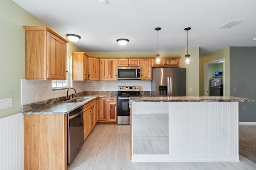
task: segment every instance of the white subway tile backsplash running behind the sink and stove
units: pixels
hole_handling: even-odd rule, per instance
[[[151,91],[151,81],[73,81],[76,92],[84,91],[118,91],[118,86],[140,86],[141,91]],[[70,90],[69,94],[73,92]],[[51,80],[21,79],[21,105],[58,98],[67,95],[67,89],[52,90]]]

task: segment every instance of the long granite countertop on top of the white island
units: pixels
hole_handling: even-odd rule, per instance
[[[130,102],[254,102],[253,99],[222,96],[130,97]]]

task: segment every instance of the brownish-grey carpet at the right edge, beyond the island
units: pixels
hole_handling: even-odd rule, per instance
[[[256,125],[239,125],[239,154],[256,163]]]

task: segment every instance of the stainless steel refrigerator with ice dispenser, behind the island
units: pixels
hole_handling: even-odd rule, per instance
[[[151,94],[186,96],[186,68],[152,68]]]

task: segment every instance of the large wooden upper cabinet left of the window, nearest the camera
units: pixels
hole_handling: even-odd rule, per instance
[[[68,41],[46,26],[25,29],[25,78],[66,80]]]

